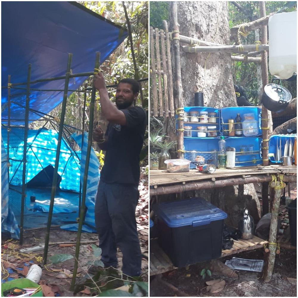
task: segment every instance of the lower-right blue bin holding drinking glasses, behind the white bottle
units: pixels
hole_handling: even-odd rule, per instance
[[[249,167],[262,164],[261,142],[258,137],[228,137],[225,138],[226,146],[236,149],[235,167]],[[254,150],[249,149],[250,145],[254,146]],[[247,151],[241,152],[240,146],[246,146]],[[238,158],[238,161],[237,161]]]

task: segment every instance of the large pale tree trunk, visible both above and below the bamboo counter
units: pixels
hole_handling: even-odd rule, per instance
[[[170,2],[170,5],[173,3]],[[225,1],[178,2],[178,23],[181,35],[229,45],[228,6]],[[173,30],[171,14],[170,30]],[[182,45],[184,44],[181,43],[180,46]],[[194,106],[194,93],[198,91],[204,92],[205,106],[215,108],[237,106],[230,53],[186,53],[181,49],[180,58],[184,106]],[[174,61],[172,57],[173,82],[176,82]],[[177,97],[176,88],[174,83],[174,98]],[[166,125],[167,128],[173,128],[173,125],[168,123]],[[172,131],[167,131],[167,134],[171,135]],[[260,202],[253,184],[247,184],[239,189],[238,186],[234,186],[224,187],[218,191],[200,190],[196,191],[196,195],[212,201],[228,212],[231,225],[238,225],[240,209],[243,207],[251,209],[255,221],[260,218]]]

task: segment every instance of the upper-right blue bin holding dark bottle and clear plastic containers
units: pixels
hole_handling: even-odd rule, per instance
[[[222,134],[223,136],[228,136],[228,130],[229,130],[229,119],[234,119],[237,116],[237,113],[240,113],[240,117],[242,119],[242,122],[244,119],[244,114],[253,114],[254,119],[257,121],[257,128],[258,131],[256,132],[255,136],[261,136],[262,130],[261,130],[261,109],[257,107],[228,107],[228,108],[222,108],[221,109],[221,127],[222,127]],[[243,124],[242,124],[243,125]],[[240,136],[240,137],[249,137],[249,136]]]

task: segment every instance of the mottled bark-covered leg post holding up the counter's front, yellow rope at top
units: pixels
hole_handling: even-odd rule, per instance
[[[277,181],[277,185],[280,185],[280,181]],[[280,196],[281,196],[281,189],[274,189],[274,198],[271,207],[271,221],[270,221],[270,231],[269,231],[269,243],[276,243],[276,235],[277,235],[277,221],[278,221],[278,209],[280,206]],[[275,262],[275,252],[276,252],[276,245],[269,244],[269,252],[268,258],[265,261],[264,273],[262,279],[264,282],[269,282],[272,277],[272,272],[274,268]]]

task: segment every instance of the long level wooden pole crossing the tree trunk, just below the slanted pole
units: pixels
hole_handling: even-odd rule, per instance
[[[257,45],[261,51],[268,51],[267,44]],[[242,46],[182,46],[184,52],[187,53],[243,53],[244,51],[253,51],[256,49],[255,44],[244,44]]]

